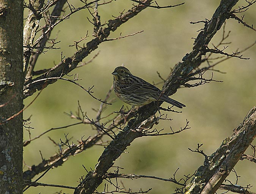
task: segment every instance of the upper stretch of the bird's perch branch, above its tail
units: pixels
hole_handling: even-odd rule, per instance
[[[163,85],[165,94],[174,94],[183,84],[182,80],[184,80],[193,69],[201,64],[201,57],[206,54],[206,45],[209,44],[210,40],[221,28],[225,20],[229,18],[229,12],[237,2],[238,0],[221,0],[212,19],[209,22],[206,22],[204,29],[196,37],[193,51],[183,57],[183,62],[180,62],[176,68],[174,68],[172,74]]]

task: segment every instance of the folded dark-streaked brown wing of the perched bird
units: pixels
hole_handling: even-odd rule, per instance
[[[119,85],[122,92],[126,93],[150,93],[159,94],[160,89],[152,85],[151,83],[146,82],[145,80],[141,79],[140,77],[132,76],[127,79],[126,84]]]

